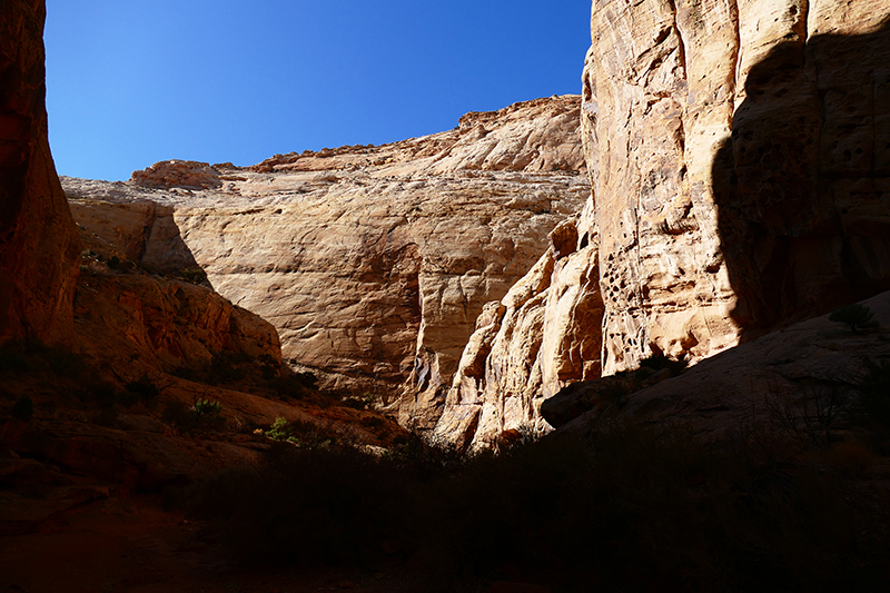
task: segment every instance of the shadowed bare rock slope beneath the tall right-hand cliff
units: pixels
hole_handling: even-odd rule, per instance
[[[829,316],[794,324],[629,395],[621,415],[678,423],[713,439],[744,431],[824,437],[827,431],[849,429],[849,419],[862,414],[869,365],[890,360],[890,293],[862,305],[873,315],[868,328],[853,332]],[[586,431],[614,413],[596,393],[597,383],[580,384],[593,405],[561,429]]]

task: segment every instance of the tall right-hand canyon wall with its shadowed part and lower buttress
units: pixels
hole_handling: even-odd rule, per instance
[[[889,289],[888,16],[886,0],[594,1],[592,196],[571,265],[537,284],[571,287],[568,303],[538,293],[516,326],[505,299],[502,337],[492,327],[465,350],[437,433],[481,444],[545,428],[541,399],[585,368],[695,363]],[[557,307],[567,319],[545,327]],[[558,346],[497,348],[513,327]]]

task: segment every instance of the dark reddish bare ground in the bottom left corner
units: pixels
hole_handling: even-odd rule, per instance
[[[113,497],[66,511],[39,533],[0,541],[4,593],[376,593],[403,586],[398,560],[375,571],[238,567],[199,535],[200,523],[159,496]],[[10,545],[13,544],[13,545]]]

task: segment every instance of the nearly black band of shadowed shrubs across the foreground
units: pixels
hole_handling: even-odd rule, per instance
[[[258,471],[207,482],[192,513],[254,562],[366,562],[397,538],[443,591],[504,577],[554,591],[882,590],[873,514],[837,476],[756,448],[619,422],[457,461],[419,437],[383,457],[280,444]]]

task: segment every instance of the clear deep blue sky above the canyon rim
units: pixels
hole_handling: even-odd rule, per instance
[[[253,165],[577,93],[590,0],[47,0],[60,175]]]

